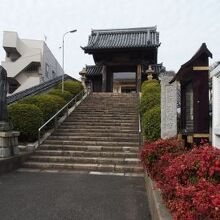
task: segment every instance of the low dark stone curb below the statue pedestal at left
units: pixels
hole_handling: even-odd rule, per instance
[[[0,159],[0,175],[19,168],[30,154],[31,153],[23,153],[14,157]]]

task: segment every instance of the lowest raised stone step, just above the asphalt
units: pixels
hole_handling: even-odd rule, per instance
[[[24,162],[24,168],[37,169],[70,169],[70,170],[86,170],[86,171],[109,171],[109,172],[143,172],[141,166],[135,165],[112,165],[112,164],[81,164],[81,163],[42,163],[42,162]]]

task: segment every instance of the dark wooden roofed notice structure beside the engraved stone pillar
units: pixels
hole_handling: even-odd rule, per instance
[[[170,82],[181,84],[180,134],[189,146],[209,139],[209,57],[212,54],[203,43]]]

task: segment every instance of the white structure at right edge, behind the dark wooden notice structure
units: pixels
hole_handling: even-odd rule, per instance
[[[220,64],[210,72],[212,78],[212,145],[220,148]]]

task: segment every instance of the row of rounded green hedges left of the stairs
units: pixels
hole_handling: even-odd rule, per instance
[[[38,128],[43,122],[50,119],[83,89],[81,83],[77,81],[65,81],[64,86],[64,93],[61,91],[61,85],[58,85],[48,93],[26,97],[8,107],[14,129],[21,132],[20,140],[36,140]],[[51,124],[47,128],[50,126]]]

